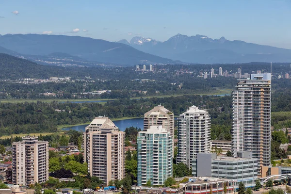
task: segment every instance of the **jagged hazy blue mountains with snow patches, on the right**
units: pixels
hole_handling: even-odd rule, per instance
[[[136,40],[142,43],[135,44]],[[238,40],[229,41],[225,37],[211,39],[199,34],[195,36],[177,34],[164,42],[134,37],[129,45],[150,54],[188,63],[291,62],[290,49]]]

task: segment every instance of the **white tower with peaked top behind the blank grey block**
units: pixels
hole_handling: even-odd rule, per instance
[[[177,163],[183,162],[191,167],[198,153],[208,152],[210,152],[210,116],[208,112],[192,106],[179,116]]]

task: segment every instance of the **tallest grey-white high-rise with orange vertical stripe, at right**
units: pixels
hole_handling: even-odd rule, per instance
[[[271,74],[251,74],[232,91],[232,153],[251,151],[260,165],[271,161]]]

